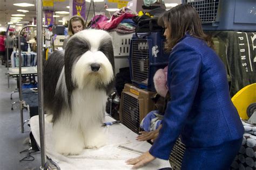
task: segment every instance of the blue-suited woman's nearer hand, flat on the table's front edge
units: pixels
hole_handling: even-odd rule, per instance
[[[149,153],[149,151],[147,151],[147,152],[143,153],[142,155],[140,155],[139,157],[126,160],[125,162],[127,165],[133,165],[132,168],[139,168],[139,167],[146,165],[147,163],[151,162],[154,159],[156,159],[156,158],[153,157]]]

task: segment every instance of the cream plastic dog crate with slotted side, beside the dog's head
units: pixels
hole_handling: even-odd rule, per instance
[[[130,42],[133,33],[121,34],[116,31],[109,32],[113,40],[114,56],[129,56]]]

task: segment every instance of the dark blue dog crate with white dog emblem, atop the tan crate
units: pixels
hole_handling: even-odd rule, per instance
[[[168,65],[170,50],[161,32],[133,34],[130,51],[131,81],[140,88],[156,91],[153,76]]]

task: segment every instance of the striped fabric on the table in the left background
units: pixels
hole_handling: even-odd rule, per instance
[[[21,52],[22,56],[22,67],[36,66],[37,65],[37,54],[35,52]],[[19,57],[18,53],[14,52],[11,55],[12,67],[19,66]]]

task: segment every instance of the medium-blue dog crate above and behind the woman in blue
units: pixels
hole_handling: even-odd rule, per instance
[[[255,0],[183,0],[196,8],[203,29],[255,31]]]

